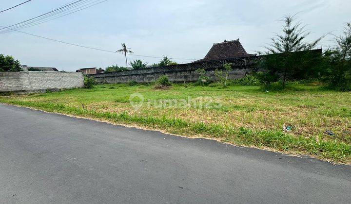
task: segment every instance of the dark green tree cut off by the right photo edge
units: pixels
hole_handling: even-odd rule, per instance
[[[342,91],[351,90],[351,22],[346,23],[343,34],[335,36],[336,46],[325,52],[330,85]]]

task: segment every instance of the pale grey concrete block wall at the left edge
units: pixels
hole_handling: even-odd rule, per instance
[[[0,92],[37,92],[47,89],[83,87],[81,72],[23,71],[0,72]]]

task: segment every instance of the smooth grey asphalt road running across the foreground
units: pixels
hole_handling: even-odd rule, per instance
[[[0,203],[351,203],[351,167],[0,104]]]

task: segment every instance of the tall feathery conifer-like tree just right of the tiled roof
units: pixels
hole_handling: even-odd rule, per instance
[[[320,66],[316,62],[320,61],[321,55],[310,50],[316,47],[323,36],[307,42],[306,37],[310,32],[304,30],[305,26],[301,26],[300,22],[294,23],[295,16],[288,15],[282,21],[282,34],[276,34],[272,43],[265,47],[267,51],[264,53],[269,55],[261,61],[259,66],[263,71],[258,73],[257,77],[264,84],[282,80],[284,88],[287,79],[303,79],[317,75]]]

